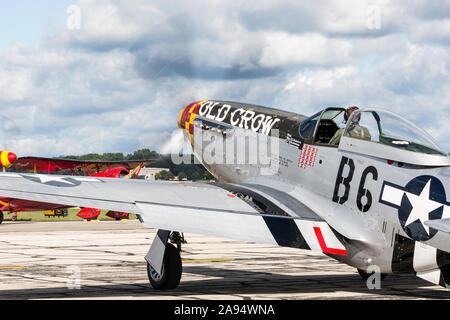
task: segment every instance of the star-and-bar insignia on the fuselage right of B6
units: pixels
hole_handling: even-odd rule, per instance
[[[425,221],[450,218],[450,204],[446,199],[445,188],[433,176],[418,176],[405,187],[385,181],[380,202],[398,209],[400,225],[416,241],[430,240],[437,233]]]

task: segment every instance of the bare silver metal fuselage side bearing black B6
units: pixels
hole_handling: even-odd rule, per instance
[[[217,108],[220,112],[219,107]],[[244,105],[241,108],[255,111],[252,106]],[[246,117],[247,114],[232,113],[231,121],[223,122],[217,121],[217,118],[222,120],[224,117],[220,113],[220,117],[214,116],[214,110],[211,108],[203,110],[203,115],[201,113],[200,110],[191,123],[194,127],[193,133],[191,131],[189,135],[186,131],[186,134],[191,138],[196,157],[201,159],[211,174],[219,181],[261,185],[280,190],[304,203],[320,215],[337,234],[346,239],[347,255],[333,256],[334,258],[361,269],[376,265],[382,273],[422,272],[435,269],[438,264],[450,262],[447,258],[440,262],[436,259],[437,250],[450,252],[450,235],[427,228],[429,239],[426,234],[411,236],[405,231],[399,218],[399,211],[404,210],[399,207],[403,206],[404,202],[401,204],[396,202],[406,200],[394,199],[395,197],[388,194],[389,190],[397,190],[400,194],[405,191],[402,191],[402,188],[408,183],[411,185],[411,181],[415,178],[431,176],[442,183],[444,195],[448,194],[450,192],[448,166],[410,165],[388,161],[389,159],[383,157],[346,151],[338,146],[309,145],[306,142],[302,148],[310,147],[313,154],[305,160],[302,159],[301,148],[288,143],[290,137],[283,137],[283,134],[272,134],[269,137],[267,131],[262,133],[261,130],[252,130],[254,122],[251,121],[251,116],[254,119],[255,114],[249,113],[248,119],[239,121],[239,117]],[[276,115],[274,117],[276,118]],[[299,116],[299,123],[302,119],[304,117]],[[276,154],[269,152],[271,164],[277,162],[275,169],[272,168],[272,171],[269,169],[268,173],[267,170],[262,172],[264,166],[260,163],[245,161],[211,163],[204,160],[211,159],[211,153],[214,153],[216,159],[236,159],[238,155],[235,153],[239,153],[239,150],[248,150],[249,139],[242,138],[242,132],[245,131],[252,132],[250,140],[255,137],[262,138],[267,140],[267,144],[277,145]],[[227,141],[232,140],[234,147],[226,148]],[[249,155],[247,159],[248,157]],[[414,196],[411,192],[408,195]],[[402,197],[407,197],[406,193]],[[439,210],[448,213],[445,199],[442,206]],[[413,258],[411,250],[416,253]],[[405,263],[408,259],[409,263]]]

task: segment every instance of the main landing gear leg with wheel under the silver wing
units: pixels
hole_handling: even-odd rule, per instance
[[[176,247],[172,243],[174,243]],[[145,256],[150,284],[158,290],[175,289],[181,280],[181,244],[186,243],[183,234],[158,230]]]

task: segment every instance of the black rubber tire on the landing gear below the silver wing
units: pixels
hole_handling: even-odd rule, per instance
[[[181,256],[171,243],[166,245],[161,273],[161,276],[157,276],[154,269],[147,263],[147,275],[153,288],[170,290],[178,287],[182,274]]]

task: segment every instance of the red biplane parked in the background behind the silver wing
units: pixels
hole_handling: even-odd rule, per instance
[[[129,161],[85,161],[71,159],[55,159],[42,157],[21,157],[16,160],[14,154],[10,156],[0,155],[3,167],[11,168],[13,171],[33,171],[34,173],[71,172],[73,175],[92,176],[103,178],[137,178],[141,168],[156,159],[129,160]],[[14,156],[12,156],[12,155]],[[3,164],[3,159],[9,161]],[[3,211],[13,213],[13,221],[17,220],[17,213],[21,211],[45,211],[46,216],[67,215],[67,206],[45,202],[27,201],[13,198],[0,197],[0,223],[3,221]],[[101,210],[95,208],[81,208],[77,216],[86,220],[95,220]],[[107,216],[120,220],[128,219],[128,213],[108,211]]]

